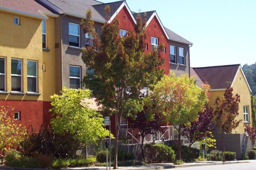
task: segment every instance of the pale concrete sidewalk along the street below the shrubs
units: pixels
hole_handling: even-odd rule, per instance
[[[148,164],[143,166],[119,166],[118,169],[121,170],[162,170],[162,169],[171,169],[171,168],[185,168],[190,166],[208,166],[208,165],[225,165],[225,164],[236,164],[236,163],[249,163],[250,160],[245,161],[198,161],[195,163],[184,163],[183,165],[173,165],[173,163],[156,163]],[[113,167],[111,167],[112,169]],[[86,167],[86,168],[67,168],[65,170],[106,170],[106,166],[95,166],[95,167]],[[109,170],[109,167],[108,167]]]

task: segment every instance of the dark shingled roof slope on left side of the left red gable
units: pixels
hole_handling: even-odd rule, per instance
[[[114,13],[117,11],[117,9],[122,5],[122,1],[117,1],[117,2],[111,2],[111,3],[106,3],[106,4],[98,4],[98,5],[93,5],[94,9],[98,11],[98,13],[103,17],[106,18],[106,12],[105,12],[105,7],[109,5],[111,12],[109,13],[109,16],[113,16]]]

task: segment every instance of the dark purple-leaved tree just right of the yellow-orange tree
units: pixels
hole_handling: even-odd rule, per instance
[[[183,125],[182,135],[189,140],[189,146],[195,141],[202,140],[203,137],[210,137],[211,132],[215,130],[211,125],[213,123],[213,108],[204,106],[203,112],[198,112],[198,119],[188,125]]]

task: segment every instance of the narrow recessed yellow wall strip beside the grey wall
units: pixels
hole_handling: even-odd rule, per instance
[[[46,48],[43,50],[43,101],[51,101],[55,92],[55,18],[46,20]],[[50,51],[48,51],[50,50]]]

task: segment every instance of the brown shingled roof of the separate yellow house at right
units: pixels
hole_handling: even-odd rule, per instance
[[[202,82],[210,84],[211,89],[226,89],[228,84],[231,85],[240,64],[211,66],[193,68]],[[193,72],[191,72],[193,75]]]

